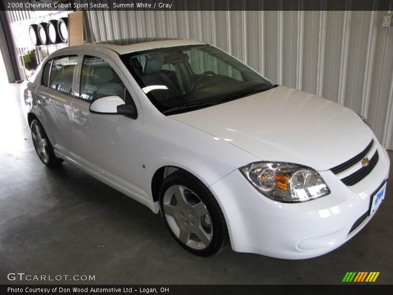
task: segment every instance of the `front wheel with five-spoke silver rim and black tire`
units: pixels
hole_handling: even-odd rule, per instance
[[[220,205],[192,174],[179,170],[164,180],[160,188],[160,209],[170,234],[187,251],[208,257],[229,245]]]

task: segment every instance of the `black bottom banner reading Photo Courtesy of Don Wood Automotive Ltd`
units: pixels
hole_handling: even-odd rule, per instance
[[[268,294],[385,294],[391,286],[373,283],[341,285],[2,285],[1,294],[108,295],[268,295]]]

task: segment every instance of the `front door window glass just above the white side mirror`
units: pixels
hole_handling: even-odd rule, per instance
[[[126,103],[130,95],[111,65],[105,59],[84,56],[81,75],[81,98],[93,101],[117,95]]]

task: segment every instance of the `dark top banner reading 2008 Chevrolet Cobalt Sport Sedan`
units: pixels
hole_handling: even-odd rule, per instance
[[[393,10],[393,0],[1,0],[5,10]]]

